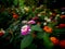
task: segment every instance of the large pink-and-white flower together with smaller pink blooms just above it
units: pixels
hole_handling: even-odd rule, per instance
[[[29,24],[36,24],[36,22],[34,21],[34,20],[31,20],[31,21],[23,21],[22,23],[26,23],[26,24],[28,24],[28,25],[24,25],[22,28],[21,28],[21,33],[22,33],[22,35],[27,35],[27,34],[29,34],[30,33],[30,26],[29,26]]]

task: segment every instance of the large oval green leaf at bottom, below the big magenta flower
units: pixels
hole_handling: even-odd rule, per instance
[[[21,41],[21,49],[24,49],[28,47],[32,41],[32,37],[30,35],[26,36],[22,41]]]

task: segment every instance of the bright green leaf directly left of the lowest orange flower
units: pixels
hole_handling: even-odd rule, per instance
[[[49,38],[49,34],[47,34],[47,33],[43,34],[43,42],[44,42],[44,47],[47,49],[52,49],[53,48],[53,44],[51,42],[51,40]]]

